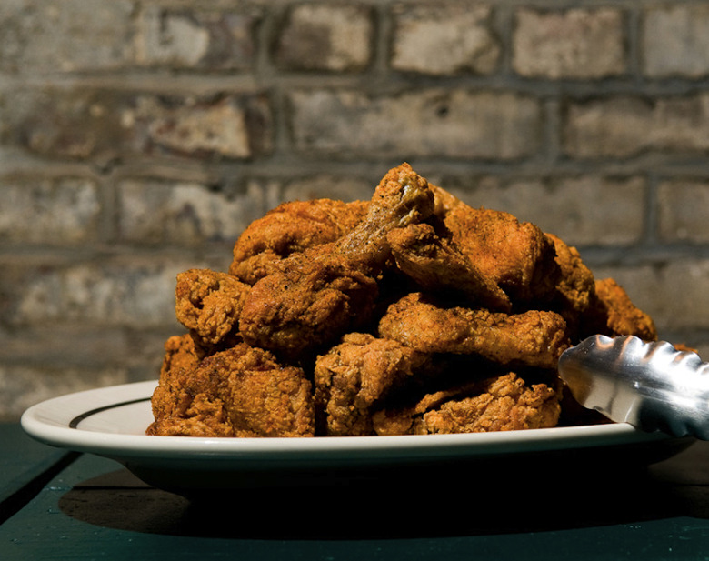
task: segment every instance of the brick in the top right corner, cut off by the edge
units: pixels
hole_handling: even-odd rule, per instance
[[[709,5],[648,7],[642,46],[645,75],[696,78],[709,74]]]

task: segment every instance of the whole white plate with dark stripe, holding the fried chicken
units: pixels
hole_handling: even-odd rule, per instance
[[[435,436],[146,436],[155,386],[155,381],[139,382],[55,397],[27,409],[22,426],[40,442],[113,458],[147,483],[178,491],[289,485],[303,476],[321,480],[387,468],[401,474],[404,467],[507,461],[520,455],[571,458],[586,451],[598,456],[598,450],[654,461],[689,444],[627,424]]]

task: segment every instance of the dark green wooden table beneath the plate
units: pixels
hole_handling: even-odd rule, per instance
[[[190,501],[0,425],[0,559],[707,559],[709,443],[646,469],[554,464],[397,488]]]

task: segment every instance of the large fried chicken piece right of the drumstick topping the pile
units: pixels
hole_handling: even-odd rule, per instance
[[[536,225],[508,213],[448,203],[444,224],[475,267],[513,302],[554,294],[554,244]]]

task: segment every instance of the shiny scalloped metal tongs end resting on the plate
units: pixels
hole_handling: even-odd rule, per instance
[[[669,343],[591,336],[566,349],[559,375],[576,401],[644,431],[709,440],[709,364]]]

